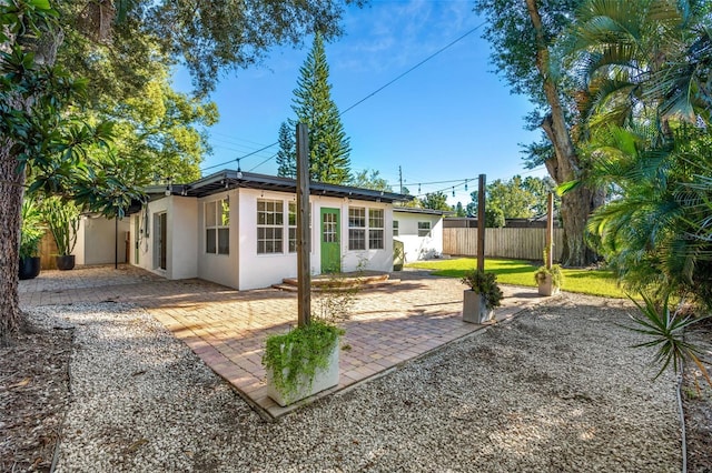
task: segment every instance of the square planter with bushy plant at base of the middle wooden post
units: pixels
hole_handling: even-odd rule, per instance
[[[461,280],[469,286],[463,293],[463,321],[483,323],[494,318],[494,308],[502,305],[504,294],[495,273],[471,270]]]

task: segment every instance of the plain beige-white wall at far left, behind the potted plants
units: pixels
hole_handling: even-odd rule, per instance
[[[126,260],[126,239],[129,231],[129,219],[119,220],[118,260]],[[82,217],[77,233],[75,256],[77,264],[110,264],[116,260],[115,249],[116,222],[103,217]]]

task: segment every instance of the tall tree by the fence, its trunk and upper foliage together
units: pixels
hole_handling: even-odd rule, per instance
[[[528,117],[541,127],[543,142],[527,147],[527,158],[544,164],[557,184],[580,179],[589,167],[578,150],[578,111],[575,89],[556,62],[557,39],[571,26],[581,0],[477,0],[476,10],[488,20],[485,38],[492,61],[512,91],[530,98],[535,107]],[[584,243],[586,219],[603,202],[603,193],[581,185],[562,198],[564,263],[584,265],[594,254]]]

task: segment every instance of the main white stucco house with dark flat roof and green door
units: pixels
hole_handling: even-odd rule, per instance
[[[130,215],[129,263],[238,290],[297,275],[296,181],[220,171],[148,189]],[[312,273],[393,269],[394,202],[408,195],[310,183]],[[442,244],[441,244],[442,248]]]

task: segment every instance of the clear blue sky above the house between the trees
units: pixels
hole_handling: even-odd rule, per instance
[[[326,44],[332,98],[346,110],[437,50],[482,23],[467,0],[373,0],[347,7],[346,34]],[[479,173],[487,182],[514,174],[544,175],[523,168],[517,143],[536,140],[523,129],[531,110],[492,72],[482,28],[342,115],[350,138],[352,169],[378,170],[398,191],[398,167],[412,194],[445,191],[448,202],[469,202]],[[277,141],[279,124],[293,118],[299,67],[312,47],[275,50],[260,66],[230,72],[211,99],[220,121],[209,130],[214,154],[202,168],[235,169],[235,159]],[[189,90],[177,74],[176,87]],[[276,174],[275,145],[241,160],[241,169]],[[270,159],[271,158],[271,159]],[[454,181],[454,182],[439,182]],[[432,183],[436,182],[436,183]],[[419,185],[418,185],[419,184]],[[453,188],[455,197],[453,198]]]

